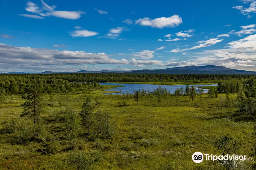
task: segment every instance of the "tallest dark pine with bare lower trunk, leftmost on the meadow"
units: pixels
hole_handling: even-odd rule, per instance
[[[41,106],[41,92],[38,84],[32,86],[26,86],[25,94],[22,95],[22,99],[26,99],[25,103],[22,104],[24,111],[20,116],[33,115],[34,128],[36,127],[37,120],[40,119],[40,112],[42,111]]]

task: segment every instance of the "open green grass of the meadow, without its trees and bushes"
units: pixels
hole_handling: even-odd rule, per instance
[[[219,98],[224,98],[225,94],[219,94],[218,98],[196,95],[193,101],[184,95],[169,94],[162,96],[160,101],[154,96],[141,95],[137,105],[133,94],[104,95],[102,90],[110,88],[115,87],[76,88],[71,94],[54,94],[52,101],[48,94],[42,95],[44,135],[40,140],[25,143],[15,140],[20,128],[15,133],[4,132],[11,119],[19,122],[27,119],[20,117],[24,103],[21,95],[8,95],[0,104],[0,169],[226,169],[213,161],[194,163],[191,159],[197,151],[221,155],[214,141],[223,135],[241,145],[236,154],[253,158],[240,162],[237,169],[255,169],[252,119],[234,107],[221,108]],[[78,146],[68,149],[65,122],[55,120],[54,116],[68,105],[80,112],[88,96],[93,103],[95,97],[101,103],[94,107],[93,113],[109,111],[110,120],[115,123],[115,134],[109,139],[87,136],[86,129],[81,127]],[[32,118],[28,121],[32,122]],[[87,160],[82,157],[83,153],[96,158]]]

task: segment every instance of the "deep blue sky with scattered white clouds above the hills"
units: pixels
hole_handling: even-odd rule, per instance
[[[0,72],[256,71],[256,1],[0,0]]]

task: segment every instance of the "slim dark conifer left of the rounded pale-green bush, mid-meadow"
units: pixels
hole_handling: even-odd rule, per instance
[[[86,97],[83,105],[82,111],[79,113],[82,117],[82,125],[87,128],[87,135],[89,135],[91,116],[93,113],[94,106],[92,105],[92,99],[90,97]]]

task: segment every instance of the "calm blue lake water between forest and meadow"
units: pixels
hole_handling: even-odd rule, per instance
[[[104,91],[119,91],[121,90],[122,93],[123,92],[129,92],[129,93],[133,93],[134,90],[139,90],[139,89],[144,89],[144,90],[150,90],[153,91],[154,89],[156,90],[159,85],[153,85],[153,84],[125,84],[125,83],[100,83],[102,85],[121,85],[121,86],[125,86],[125,87],[117,87],[114,89],[108,89],[108,90],[104,90]],[[174,91],[177,88],[181,88],[181,86],[183,86],[183,89],[185,91],[185,87],[186,85],[161,85],[162,88],[166,88],[168,91],[170,90],[171,93],[174,93]],[[217,84],[207,84],[207,85],[202,85],[202,84],[197,84],[195,86],[200,86],[200,87],[204,87],[204,86],[217,86]],[[191,87],[191,85],[189,85],[189,87]],[[196,88],[198,89],[198,88]],[[203,89],[205,93],[208,92],[207,89]],[[109,94],[109,93],[106,93]],[[112,93],[112,94],[120,94],[120,93]]]

